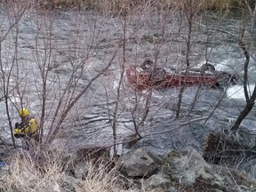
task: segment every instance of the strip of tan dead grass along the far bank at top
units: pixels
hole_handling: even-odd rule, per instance
[[[15,1],[15,0],[12,0]],[[29,2],[30,0],[28,0]],[[253,4],[254,0],[248,0]],[[189,0],[40,0],[37,3],[48,8],[69,8],[69,7],[85,7],[87,9],[95,9],[100,12],[118,12],[120,10],[128,9],[132,11],[138,7],[151,6],[154,8],[170,9],[178,8],[184,9]],[[199,10],[212,10],[212,9],[228,9],[237,7],[243,4],[242,0],[192,0],[194,6]]]

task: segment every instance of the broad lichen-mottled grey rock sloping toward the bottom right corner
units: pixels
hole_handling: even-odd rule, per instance
[[[256,191],[255,180],[245,172],[227,166],[207,164],[195,148],[166,153],[162,173],[164,178],[177,182],[182,188],[215,191]]]

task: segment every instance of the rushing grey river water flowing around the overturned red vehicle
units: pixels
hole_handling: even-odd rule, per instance
[[[215,27],[219,25],[220,20],[214,18],[213,13],[209,13],[208,16],[194,22],[191,65],[200,66],[207,55],[207,60],[218,70],[235,73],[242,77],[244,54],[238,47],[236,39],[216,30]],[[124,62],[124,57],[125,66],[139,65],[146,58],[155,59],[156,55],[158,65],[164,68],[184,68],[185,66],[184,52],[186,52],[188,28],[186,20],[180,20],[175,12],[169,12],[164,19],[157,14],[149,15],[147,12],[141,12],[140,16],[127,17],[125,22],[124,18],[111,18],[89,11],[63,11],[54,14],[27,12],[10,31],[8,28],[15,22],[12,15],[3,11],[0,20],[2,36],[7,34],[2,42],[1,60],[5,75],[11,75],[9,86],[12,123],[18,120],[16,108],[13,108],[13,105],[20,108],[19,92],[23,95],[23,105],[39,119],[42,108],[42,68],[45,67],[48,71],[45,129],[52,123],[60,95],[65,92],[65,88],[67,86],[70,88],[69,94],[65,95],[67,101],[74,98],[74,94],[81,92],[92,76],[111,60],[120,39],[124,39],[125,31],[127,41],[124,49],[125,55],[121,48],[113,65],[78,100],[63,124],[63,132],[57,142],[62,146],[63,143],[67,144],[68,148],[106,145],[112,142],[111,122],[113,122],[116,107],[116,86],[121,76],[122,66],[120,64]],[[237,35],[239,28],[237,23],[236,18],[228,18],[217,27]],[[205,26],[208,26],[208,29]],[[74,68],[76,74],[73,74]],[[250,89],[253,88],[255,82],[255,70],[255,60],[251,60],[249,76],[252,85],[249,86]],[[69,78],[73,75],[75,77],[70,82]],[[138,109],[140,111],[140,105],[145,102],[147,94],[147,92],[134,93],[126,84],[125,78],[123,83],[116,122],[120,140],[133,132],[132,109],[134,109],[136,97],[140,98]],[[244,107],[244,90],[241,84],[229,87],[227,93],[204,88],[199,94],[196,108],[192,110],[191,116],[199,118],[212,114],[211,118],[207,121],[204,119],[204,125],[196,128],[198,132],[186,131],[185,128],[177,131],[175,124],[191,121],[186,118],[174,119],[173,108],[177,103],[179,90],[179,88],[156,90],[152,94],[148,119],[143,129],[148,135],[165,132],[168,129],[174,130],[162,136],[159,136],[160,133],[157,134],[158,139],[152,136],[156,142],[156,148],[162,148],[164,143],[168,147],[168,143],[172,141],[183,142],[181,138],[187,144],[195,143],[195,140],[203,140],[203,135],[200,134],[202,127],[209,127],[210,130],[226,127],[236,119]],[[185,114],[191,106],[196,91],[197,87],[190,87],[184,92],[181,110]],[[223,98],[220,106],[214,109],[220,98]],[[60,111],[67,105],[68,103],[62,103]],[[1,122],[3,122],[1,129],[4,130],[2,136],[8,141],[10,132],[6,129],[8,125],[4,101],[0,102],[0,107]],[[141,118],[141,112],[135,115],[136,119]],[[243,122],[243,126],[254,128],[254,115],[253,109],[250,116]],[[195,127],[198,124],[191,123],[189,126]],[[188,126],[185,127],[188,130]],[[150,145],[154,146],[152,140]]]

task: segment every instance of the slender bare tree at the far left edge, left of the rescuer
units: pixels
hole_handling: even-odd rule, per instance
[[[9,23],[6,22],[6,25],[3,25],[4,32],[3,34],[1,34],[0,37],[0,77],[2,84],[1,92],[4,99],[7,122],[12,135],[12,144],[15,148],[15,140],[12,134],[13,111],[11,108],[13,107],[14,109],[17,109],[17,106],[12,102],[11,97],[14,90],[17,89],[17,87],[19,86],[19,82],[14,86],[11,85],[11,82],[13,80],[12,74],[16,69],[15,67],[18,65],[18,35],[20,30],[20,21],[23,19],[26,13],[29,12],[29,9],[32,7],[33,4],[29,3],[29,1],[22,1],[21,3],[16,1],[4,1],[2,2],[2,5],[6,8],[5,11],[8,15],[7,20],[9,21]],[[12,60],[6,59],[5,55],[3,54],[4,49],[8,47],[5,46],[5,44],[8,44],[8,40],[10,39],[10,37],[13,39],[14,50],[12,53],[9,52],[8,54],[10,54]]]

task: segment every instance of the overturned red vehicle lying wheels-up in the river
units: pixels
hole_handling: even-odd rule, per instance
[[[236,84],[236,75],[228,72],[216,71],[211,64],[204,64],[201,68],[190,68],[187,71],[166,72],[164,68],[154,67],[152,60],[145,60],[140,67],[130,66],[125,70],[128,83],[136,90],[152,88],[188,87],[193,85],[207,85],[209,87]]]

